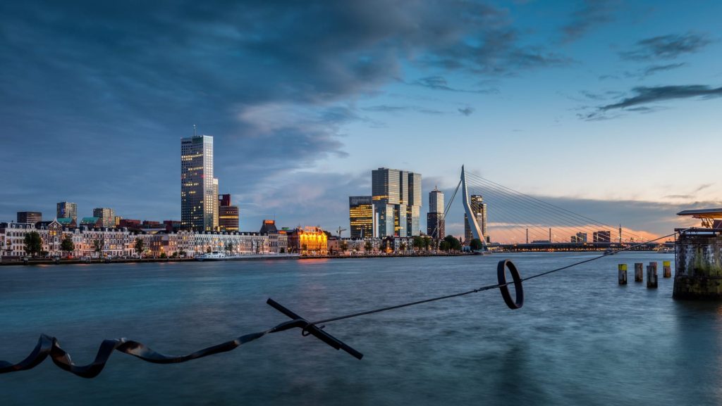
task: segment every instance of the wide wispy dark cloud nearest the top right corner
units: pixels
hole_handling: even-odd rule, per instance
[[[640,40],[634,49],[620,52],[619,56],[632,61],[674,59],[685,53],[695,53],[711,42],[706,35],[691,32],[682,35],[661,35]]]

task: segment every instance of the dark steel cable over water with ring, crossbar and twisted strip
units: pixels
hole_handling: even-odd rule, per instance
[[[684,230],[680,231],[684,232]],[[48,356],[51,358],[53,363],[56,364],[60,369],[63,369],[64,371],[68,371],[71,374],[81,376],[83,378],[94,378],[98,374],[100,374],[101,371],[103,371],[103,368],[105,367],[105,364],[108,363],[108,359],[110,358],[110,355],[113,353],[113,351],[118,351],[120,353],[126,353],[131,356],[134,356],[136,358],[140,358],[143,361],[147,361],[150,363],[183,363],[187,361],[191,361],[198,358],[204,358],[206,356],[211,356],[213,354],[217,353],[225,353],[230,350],[235,350],[235,348],[238,348],[240,345],[243,345],[245,343],[250,343],[253,340],[257,340],[258,338],[264,337],[265,335],[274,333],[274,332],[282,332],[285,330],[290,330],[293,328],[300,328],[302,335],[313,335],[314,337],[318,338],[319,340],[323,341],[323,343],[326,343],[330,345],[333,348],[336,348],[336,350],[344,350],[345,352],[349,353],[349,355],[354,356],[355,358],[361,359],[363,357],[362,353],[358,352],[354,348],[351,348],[349,345],[343,343],[341,340],[338,340],[336,337],[330,335],[328,332],[323,331],[323,328],[326,326],[323,326],[323,323],[329,323],[329,322],[336,322],[343,319],[351,319],[353,317],[360,317],[365,316],[367,314],[375,314],[380,312],[387,312],[389,310],[393,309],[401,309],[403,307],[409,307],[409,306],[416,306],[418,304],[425,304],[432,301],[439,301],[444,299],[451,299],[459,296],[466,296],[469,294],[475,294],[482,291],[488,291],[491,289],[498,288],[500,289],[503,299],[505,303],[511,308],[511,309],[519,309],[523,305],[523,287],[522,282],[523,281],[529,281],[530,279],[539,278],[540,276],[549,275],[551,273],[558,272],[560,270],[565,270],[569,268],[573,268],[577,265],[581,265],[587,262],[592,262],[594,260],[599,260],[603,257],[609,257],[610,255],[615,255],[619,252],[632,250],[635,247],[640,247],[641,245],[648,244],[650,242],[656,242],[660,239],[672,237],[677,233],[673,234],[667,234],[663,237],[658,237],[656,239],[651,239],[647,242],[642,242],[639,244],[630,245],[629,247],[620,249],[620,250],[614,250],[612,252],[605,252],[604,255],[599,255],[597,257],[589,258],[588,260],[582,260],[579,262],[574,262],[570,265],[565,265],[560,268],[555,268],[552,270],[547,270],[541,273],[537,273],[535,275],[528,276],[526,278],[521,278],[518,271],[516,270],[516,266],[513,265],[513,263],[510,260],[503,260],[499,262],[499,265],[497,267],[497,281],[498,283],[487,285],[487,286],[481,286],[479,288],[474,288],[469,291],[459,292],[456,294],[448,294],[444,296],[437,296],[430,299],[423,299],[419,301],[411,301],[404,304],[396,304],[394,306],[386,306],[381,307],[378,309],[372,309],[367,310],[365,312],[356,312],[351,314],[345,314],[342,316],[337,317],[331,317],[329,319],[322,319],[318,320],[316,322],[308,322],[306,319],[301,317],[300,315],[292,312],[290,309],[287,309],[286,307],[282,306],[281,304],[277,303],[273,299],[268,299],[266,301],[269,306],[274,307],[274,309],[277,309],[279,312],[285,314],[287,317],[290,317],[290,320],[287,322],[282,322],[281,324],[270,328],[269,330],[261,331],[261,332],[253,332],[251,334],[241,335],[240,337],[237,337],[233,340],[227,341],[225,343],[220,343],[218,345],[213,345],[208,348],[204,348],[202,350],[198,350],[194,353],[190,353],[186,356],[166,356],[162,353],[158,353],[155,350],[152,350],[151,348],[147,347],[147,345],[144,345],[143,343],[139,343],[137,341],[133,340],[126,340],[125,338],[119,338],[119,339],[113,339],[113,340],[103,340],[103,343],[100,343],[100,348],[97,350],[97,355],[95,356],[95,360],[92,361],[92,363],[89,363],[84,366],[78,366],[71,360],[70,354],[66,353],[65,350],[63,350],[60,346],[60,343],[58,343],[58,339],[56,337],[51,337],[49,335],[40,335],[40,338],[38,339],[38,344],[35,345],[35,348],[32,350],[30,355],[28,355],[24,360],[20,361],[19,363],[10,363],[8,361],[1,361],[0,360],[0,374],[6,374],[9,372],[17,372],[17,371],[25,371],[28,369],[35,368],[35,366],[38,366],[40,363],[45,361],[45,358],[48,358]],[[509,269],[513,281],[507,282],[505,272],[506,269]],[[515,291],[516,291],[516,301],[510,298],[510,294],[508,291],[509,285],[515,285]],[[321,325],[319,327],[318,325]]]

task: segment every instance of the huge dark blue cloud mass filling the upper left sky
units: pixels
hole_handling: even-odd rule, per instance
[[[6,180],[19,191],[4,193],[15,208],[0,214],[42,198],[177,218],[178,141],[191,125],[216,137],[221,190],[252,191],[344,156],[344,124],[378,125],[353,100],[403,64],[505,75],[567,63],[522,42],[504,9],[461,0],[4,1],[5,163],[22,165],[32,140],[53,170]]]

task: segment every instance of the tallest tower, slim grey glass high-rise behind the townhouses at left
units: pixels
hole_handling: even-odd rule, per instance
[[[213,185],[213,137],[194,134],[181,138],[182,229],[213,230],[218,205]]]

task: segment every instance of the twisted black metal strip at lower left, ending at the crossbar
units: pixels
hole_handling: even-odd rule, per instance
[[[198,350],[186,356],[165,356],[155,350],[152,350],[143,343],[126,340],[125,338],[103,340],[103,343],[100,343],[100,347],[97,350],[95,360],[92,361],[92,363],[83,366],[78,366],[73,363],[70,358],[70,354],[66,353],[66,351],[61,348],[56,337],[43,334],[40,335],[38,344],[35,345],[35,348],[32,350],[30,355],[24,360],[19,363],[9,363],[7,361],[0,360],[0,374],[25,371],[27,369],[35,368],[35,366],[38,366],[40,363],[45,361],[45,358],[50,356],[53,363],[64,371],[81,376],[82,378],[95,378],[95,376],[103,371],[105,363],[108,362],[108,358],[110,358],[110,355],[114,350],[152,363],[181,363],[217,353],[225,353],[226,351],[235,350],[235,348],[238,348],[239,345],[257,340],[258,338],[261,338],[271,332],[288,330],[292,327],[305,327],[305,325],[308,325],[308,322],[305,322],[305,320],[291,320],[289,322],[281,323],[269,330],[241,335],[240,337],[235,338],[235,340],[213,345],[212,347]]]

